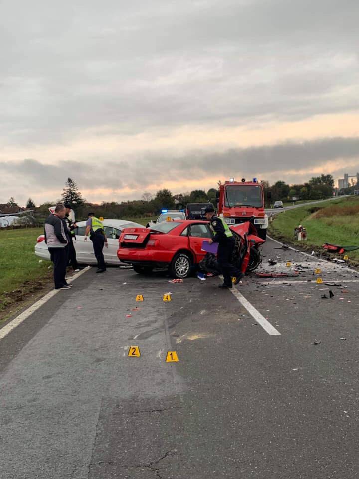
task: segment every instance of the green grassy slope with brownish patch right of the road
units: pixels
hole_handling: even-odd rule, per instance
[[[300,224],[307,229],[307,241],[294,238],[294,228]],[[339,198],[280,213],[269,224],[269,234],[276,239],[310,248],[320,247],[325,242],[359,246],[359,198]],[[359,249],[348,255],[359,260]]]

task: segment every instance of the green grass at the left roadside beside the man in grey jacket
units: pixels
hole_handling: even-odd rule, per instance
[[[52,276],[51,263],[40,263],[34,253],[42,233],[43,228],[0,231],[0,319],[5,308],[38,293]]]

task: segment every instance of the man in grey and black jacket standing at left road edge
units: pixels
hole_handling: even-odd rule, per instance
[[[54,263],[55,289],[71,288],[71,285],[67,284],[65,279],[67,266],[65,246],[68,243],[62,222],[65,213],[64,205],[56,205],[54,213],[51,213],[45,221],[45,242],[51,256],[51,261]]]

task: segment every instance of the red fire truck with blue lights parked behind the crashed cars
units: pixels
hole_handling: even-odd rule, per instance
[[[257,229],[258,236],[266,239],[268,228],[268,216],[264,210],[264,188],[256,178],[253,181],[229,181],[218,182],[219,192],[218,215],[228,225],[236,225],[250,221]]]

